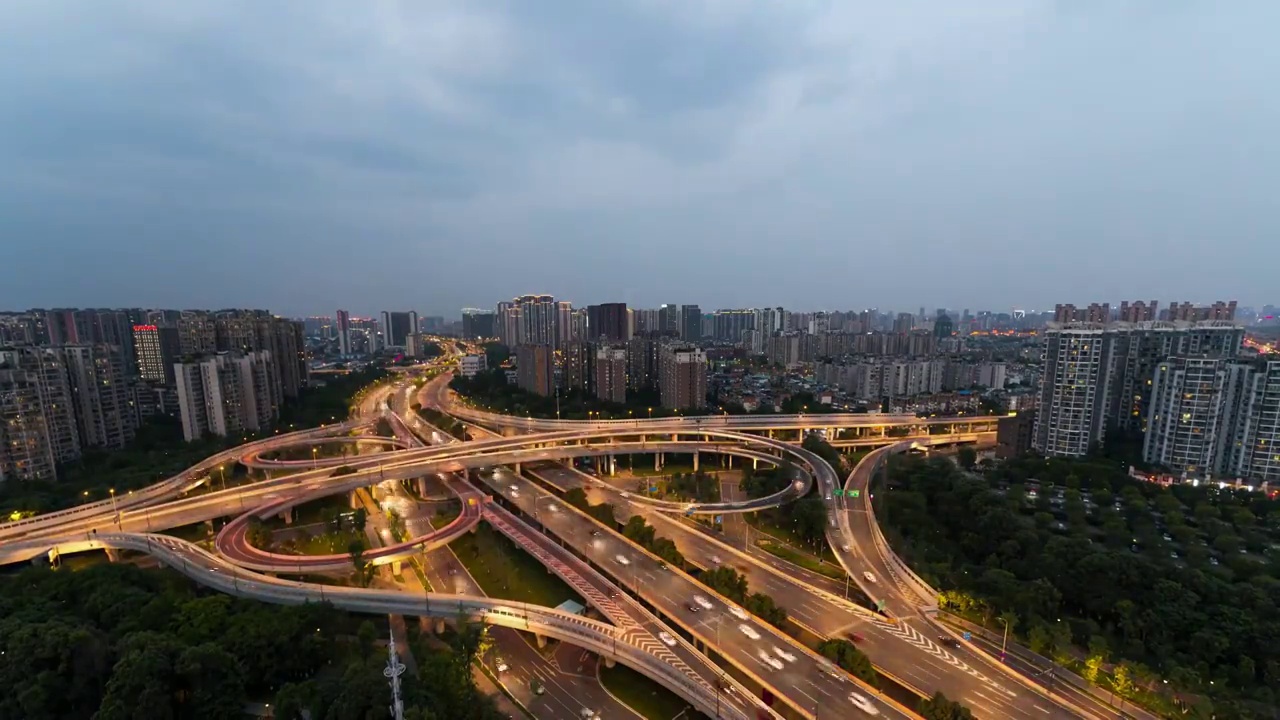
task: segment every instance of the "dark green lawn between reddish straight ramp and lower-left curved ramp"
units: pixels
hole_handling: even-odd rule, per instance
[[[532,602],[556,607],[566,600],[585,601],[543,564],[516,547],[504,536],[480,524],[475,533],[453,541],[449,547],[480,588],[490,597]]]

